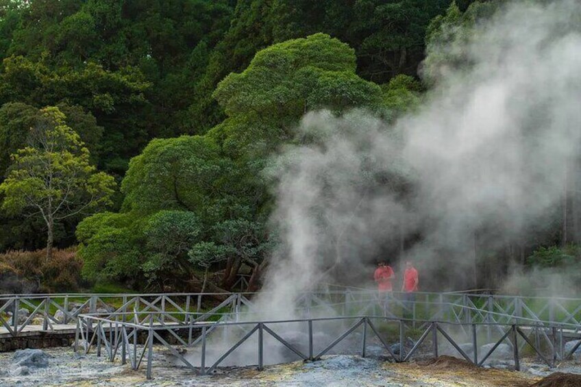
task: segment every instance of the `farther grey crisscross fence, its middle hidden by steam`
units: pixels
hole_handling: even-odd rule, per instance
[[[152,294],[51,294],[1,295],[0,334],[16,337],[24,332],[74,329],[79,314],[160,312],[162,319],[186,322],[192,313],[199,320],[233,314],[239,318],[251,309],[256,293],[152,293]],[[423,328],[425,321],[450,323],[556,323],[570,324],[567,334],[579,334],[581,299],[564,297],[518,297],[469,293],[417,292],[407,299],[400,292],[390,295],[373,290],[343,289],[303,292],[295,300],[306,316],[382,314],[407,318]],[[24,309],[23,314],[21,311]],[[165,312],[175,312],[169,316]],[[10,316],[12,314],[12,316]],[[16,318],[14,317],[16,316]],[[126,316],[126,315],[125,315]],[[424,322],[421,322],[424,321]],[[497,329],[496,329],[497,330]],[[490,336],[490,335],[489,335]]]

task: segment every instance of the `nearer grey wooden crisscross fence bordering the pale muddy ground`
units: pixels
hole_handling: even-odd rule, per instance
[[[172,313],[170,313],[172,314]],[[415,321],[410,319],[395,319],[386,316],[362,315],[362,316],[336,316],[321,317],[310,319],[291,319],[291,320],[274,320],[274,321],[221,321],[208,322],[201,321],[199,316],[193,314],[186,321],[168,324],[168,316],[162,318],[160,312],[150,312],[144,319],[138,321],[133,319],[129,314],[116,314],[114,319],[103,318],[90,314],[80,314],[77,320],[75,334],[75,351],[83,349],[84,353],[95,350],[98,356],[104,352],[110,361],[121,358],[122,364],[129,364],[132,369],[140,369],[145,360],[147,379],[152,377],[153,369],[153,351],[156,349],[154,343],[161,345],[162,349],[168,350],[175,356],[181,364],[188,369],[195,371],[199,375],[211,373],[217,367],[223,365],[225,361],[232,356],[240,346],[249,343],[255,346],[252,352],[256,354],[256,365],[259,370],[264,368],[265,337],[275,340],[291,353],[293,360],[316,361],[320,360],[323,355],[336,349],[338,345],[351,337],[355,339],[356,344],[342,347],[341,353],[360,355],[366,357],[369,342],[375,340],[379,343],[384,351],[386,360],[392,362],[406,362],[411,358],[421,355],[421,357],[437,357],[441,349],[456,353],[460,358],[468,362],[482,366],[491,358],[499,346],[505,344],[510,348],[512,353],[512,362],[516,370],[520,369],[521,358],[523,358],[523,348],[527,347],[537,356],[539,360],[545,362],[547,366],[554,367],[558,362],[567,360],[581,345],[578,342],[576,347],[565,353],[563,347],[558,346],[559,331],[571,329],[575,326],[570,324],[554,325],[546,327],[543,324],[512,322],[512,323],[450,323],[447,321]],[[336,322],[347,326],[343,331],[330,342],[317,342],[321,340],[318,335],[314,334],[314,324]],[[303,327],[304,342],[289,340],[285,337],[284,332],[276,332],[275,326],[295,324]],[[378,325],[391,324],[397,327],[397,350],[394,350],[393,344],[389,341],[394,339],[393,334],[385,334],[378,328]],[[416,324],[421,329],[412,328]],[[493,340],[493,345],[486,351],[480,349],[478,342],[482,340],[484,332],[493,327],[499,333]],[[208,341],[208,335],[215,329],[232,329],[236,328],[241,333],[231,340],[230,345],[223,351],[214,356],[209,361],[208,346],[212,345]],[[415,329],[417,340],[412,341],[412,347],[406,349],[405,342],[409,340],[407,334],[410,329]],[[196,340],[192,339],[192,331],[198,335]],[[547,342],[536,340],[539,332],[544,332]],[[140,333],[145,333],[147,339],[145,343],[138,342]],[[190,348],[197,348],[199,356],[195,359],[184,355],[169,344],[164,338],[166,336],[175,339],[178,345]],[[464,334],[462,332],[469,332]],[[389,337],[388,337],[389,336]],[[462,343],[459,337],[470,338],[468,344]],[[353,340],[351,340],[353,341]],[[420,351],[421,349],[421,351]],[[157,350],[157,349],[156,349]],[[420,353],[421,352],[421,353]]]

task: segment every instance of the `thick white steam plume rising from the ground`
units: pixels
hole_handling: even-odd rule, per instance
[[[302,290],[371,276],[401,238],[417,238],[405,257],[421,277],[443,268],[454,281],[473,277],[478,242],[495,253],[535,229],[578,155],[580,20],[576,1],[502,8],[454,42],[460,66],[426,64],[435,86],[395,125],[360,111],[307,114],[298,136],[310,144],[287,147],[269,171],[282,247],[260,297],[264,317],[288,317]]]

